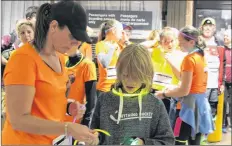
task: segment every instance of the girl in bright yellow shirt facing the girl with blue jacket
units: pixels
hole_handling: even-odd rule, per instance
[[[184,58],[183,52],[177,50],[177,34],[171,27],[165,27],[160,34],[159,45],[153,48],[152,60],[154,63],[155,74],[153,78],[153,89],[163,91],[166,88],[171,88],[179,83],[179,75],[181,59]],[[177,60],[177,61],[176,61]],[[176,66],[170,64],[170,61],[174,61]],[[175,69],[176,68],[176,69]],[[174,70],[175,69],[175,70]],[[176,71],[176,72],[174,72]],[[170,110],[169,99],[163,100],[167,111]],[[177,104],[177,109],[180,109],[180,103]]]

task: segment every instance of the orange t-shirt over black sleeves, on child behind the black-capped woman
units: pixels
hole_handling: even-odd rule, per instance
[[[75,76],[75,81],[70,87],[69,99],[74,99],[80,103],[85,102],[85,82],[97,80],[95,64],[87,58],[77,63],[73,67],[68,67],[69,74]],[[66,116],[65,121],[72,122],[72,116]]]

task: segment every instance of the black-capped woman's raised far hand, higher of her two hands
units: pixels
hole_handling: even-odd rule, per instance
[[[78,101],[72,102],[69,106],[69,113],[76,117],[76,119],[81,119],[86,111],[85,104],[80,104]]]

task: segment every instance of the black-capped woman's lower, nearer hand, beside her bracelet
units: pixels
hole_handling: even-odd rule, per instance
[[[97,145],[98,133],[94,130],[89,129],[85,125],[70,123],[68,125],[68,133],[76,140],[83,141],[87,145]]]

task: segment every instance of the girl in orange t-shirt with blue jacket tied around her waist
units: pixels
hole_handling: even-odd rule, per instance
[[[207,71],[205,70],[204,41],[192,26],[180,30],[179,44],[188,52],[181,65],[181,84],[175,89],[158,91],[156,96],[182,97],[181,110],[176,120],[176,145],[200,145],[201,134],[213,132],[210,105],[206,98]]]

